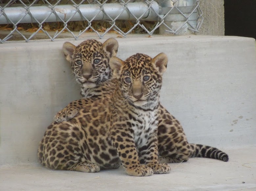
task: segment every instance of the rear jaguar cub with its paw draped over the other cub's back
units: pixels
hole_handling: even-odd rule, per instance
[[[118,42],[113,38],[107,39],[103,44],[92,39],[78,46],[64,43],[64,55],[71,63],[74,76],[81,86],[83,98],[99,99],[108,96],[115,89],[115,85],[106,87],[102,82],[112,78],[109,59],[116,55],[117,49]],[[56,114],[55,121],[59,123],[72,119],[86,104],[86,99],[69,103]],[[162,105],[160,105],[158,121],[158,160],[161,163],[185,162],[190,157],[228,161],[228,155],[217,148],[188,143],[179,121]]]

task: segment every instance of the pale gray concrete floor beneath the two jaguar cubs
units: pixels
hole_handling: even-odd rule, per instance
[[[128,176],[122,167],[99,173],[57,171],[38,164],[0,167],[1,191],[177,190],[256,191],[256,146],[222,149],[229,162],[192,158],[170,164],[170,174]],[[244,182],[244,183],[243,183]]]

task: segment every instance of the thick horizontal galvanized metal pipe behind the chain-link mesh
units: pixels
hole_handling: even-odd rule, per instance
[[[153,1],[151,3],[151,7],[156,13],[159,13],[159,6],[157,2]],[[80,5],[79,11],[81,11],[81,14],[89,21],[93,18],[93,20],[109,20],[110,18],[115,19],[119,14],[120,15],[118,17],[118,20],[137,20],[135,17],[139,18],[142,15],[142,20],[157,20],[157,14],[155,14],[155,12],[151,8],[148,8],[149,5],[143,2],[127,3],[127,9],[129,10],[128,11],[127,9],[125,9],[125,5],[119,3],[109,3],[102,6],[98,4]],[[16,24],[17,22],[35,23],[36,20],[40,23],[43,21],[56,22],[61,21],[61,19],[63,21],[85,20],[81,16],[79,11],[76,12],[77,8],[73,5],[57,5],[53,9],[55,13],[52,13],[52,9],[50,6],[30,7],[29,11],[31,14],[27,14],[27,10],[25,7],[5,8],[4,10],[2,10],[2,12],[0,10],[0,24],[10,24],[11,22],[9,20],[11,20],[14,24]],[[123,11],[123,9],[125,10]],[[3,13],[5,13],[7,17]],[[55,14],[57,14],[58,16],[56,16]],[[22,17],[24,18],[19,21]],[[60,17],[61,19],[59,19],[58,17]],[[45,18],[47,19],[45,20]]]

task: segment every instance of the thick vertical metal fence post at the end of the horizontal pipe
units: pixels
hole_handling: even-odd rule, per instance
[[[179,8],[179,7],[196,5],[196,0],[158,0],[158,2],[159,2],[159,6],[162,8],[172,8],[175,6]],[[198,17],[198,14],[195,14],[195,13],[193,14],[194,15],[191,15],[187,19],[182,14],[168,14],[164,18],[164,23],[175,31],[173,32],[174,34],[179,34],[179,35],[193,34],[194,31],[189,30],[189,27],[190,25],[192,25],[193,27],[197,26],[197,17]],[[184,15],[189,16],[190,13],[184,13]],[[188,20],[189,24],[188,23],[184,24],[186,20]],[[180,26],[182,27],[179,28]],[[170,31],[166,31],[166,30],[170,30],[170,29],[162,24],[159,27],[159,34],[170,34]]]

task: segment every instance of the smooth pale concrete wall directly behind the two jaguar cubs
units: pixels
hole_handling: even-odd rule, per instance
[[[117,40],[121,59],[137,52],[151,57],[167,53],[161,100],[190,142],[224,149],[256,145],[254,39],[191,35]],[[0,44],[0,165],[37,162],[38,142],[55,113],[80,98],[63,43]]]

